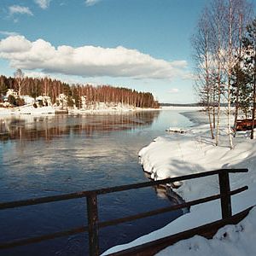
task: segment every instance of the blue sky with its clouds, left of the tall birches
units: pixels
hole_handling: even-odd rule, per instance
[[[208,0],[0,0],[0,74],[196,102],[190,38]]]

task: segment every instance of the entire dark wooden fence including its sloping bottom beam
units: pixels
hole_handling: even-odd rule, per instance
[[[247,209],[244,212],[240,212],[239,214],[232,216],[231,195],[236,195],[236,194],[241,193],[242,191],[248,189],[247,186],[244,186],[239,189],[230,191],[229,173],[235,173],[235,172],[248,172],[248,170],[247,169],[221,169],[221,170],[210,171],[210,172],[200,172],[200,173],[185,175],[185,176],[181,176],[181,177],[171,177],[171,178],[166,178],[164,180],[159,180],[159,181],[150,181],[150,182],[146,182],[146,183],[134,183],[134,184],[123,185],[123,186],[107,188],[107,189],[81,191],[81,192],[72,193],[72,194],[47,196],[47,197],[35,198],[35,199],[30,199],[30,200],[25,200],[25,201],[3,202],[3,203],[0,203],[0,210],[16,208],[16,207],[26,207],[26,206],[43,204],[43,203],[49,203],[49,202],[55,202],[55,201],[65,201],[65,200],[86,197],[88,226],[82,226],[82,227],[74,228],[72,230],[63,230],[60,232],[55,232],[55,233],[47,234],[44,236],[37,236],[37,237],[32,237],[32,238],[25,238],[25,239],[20,239],[20,240],[15,240],[15,241],[4,242],[4,243],[0,244],[0,249],[7,249],[7,248],[11,248],[11,247],[27,245],[27,244],[36,243],[39,241],[46,241],[46,240],[54,239],[56,237],[61,237],[61,236],[71,236],[74,234],[78,234],[78,233],[87,231],[87,232],[89,232],[90,256],[98,256],[100,254],[99,238],[98,238],[98,230],[100,228],[104,228],[104,227],[107,227],[110,225],[121,224],[124,222],[136,220],[139,218],[146,218],[146,217],[160,214],[163,212],[171,212],[171,211],[175,211],[177,209],[191,207],[191,206],[195,206],[197,204],[220,199],[222,220],[219,220],[216,223],[212,223],[212,225],[208,224],[205,226],[198,227],[198,228],[196,228],[197,230],[196,229],[187,230],[185,232],[178,233],[174,236],[166,237],[166,238],[160,239],[158,241],[149,242],[149,243],[144,244],[139,247],[133,247],[133,248],[125,250],[123,252],[111,254],[111,255],[133,255],[133,256],[134,255],[153,255],[154,253],[157,253],[164,247],[167,247],[168,245],[171,245],[176,241],[179,241],[179,240],[182,240],[185,238],[189,238],[191,236],[195,236],[195,234],[204,235],[204,233],[206,233],[206,232],[204,232],[204,230],[207,231],[207,234],[211,233],[213,235],[213,233],[216,232],[218,230],[218,228],[223,226],[224,224],[237,223],[239,220],[241,220],[241,218],[244,218],[247,215],[247,212],[250,209]],[[128,216],[125,218],[117,218],[117,219],[103,221],[103,222],[99,221],[98,210],[97,210],[98,195],[119,192],[119,191],[125,191],[125,190],[129,190],[129,189],[146,188],[146,187],[160,185],[160,184],[174,183],[177,181],[189,180],[189,179],[194,179],[194,178],[199,178],[199,177],[207,177],[207,176],[212,176],[212,175],[218,175],[219,190],[220,190],[220,193],[218,195],[211,195],[211,196],[207,196],[205,198],[197,199],[195,201],[184,202],[182,204],[178,204],[175,206],[164,207],[164,208],[160,208],[160,209],[150,211],[150,212],[143,212],[143,213]],[[210,232],[209,229],[212,231]],[[1,232],[1,230],[0,230],[0,232]]]

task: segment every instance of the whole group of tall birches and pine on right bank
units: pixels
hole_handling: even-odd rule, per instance
[[[256,20],[247,0],[212,0],[192,37],[195,91],[205,106],[212,139],[219,143],[220,107],[226,105],[230,148],[239,113],[255,119]],[[235,107],[235,113],[232,109]],[[234,124],[232,114],[235,115]],[[233,126],[233,130],[231,129]]]

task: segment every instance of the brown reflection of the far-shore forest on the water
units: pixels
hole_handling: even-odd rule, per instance
[[[0,118],[0,141],[44,139],[54,137],[85,135],[92,136],[96,131],[111,132],[132,130],[140,126],[152,125],[159,111],[143,111],[126,114],[86,114],[81,116],[11,116]]]

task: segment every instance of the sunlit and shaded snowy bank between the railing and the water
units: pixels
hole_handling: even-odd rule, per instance
[[[185,113],[185,116],[191,120],[197,119],[198,123],[193,125],[186,134],[176,134],[175,136],[171,134],[165,137],[157,137],[147,147],[141,149],[139,155],[141,156],[143,169],[150,173],[152,178],[157,180],[221,168],[247,167],[249,173],[230,175],[231,189],[244,185],[249,186],[247,191],[232,197],[233,213],[256,205],[256,199],[254,198],[256,193],[256,152],[253,150],[253,148],[256,148],[256,141],[251,141],[247,139],[247,134],[240,133],[234,140],[235,149],[230,150],[224,124],[226,117],[222,116],[221,143],[216,147],[214,146],[214,141],[209,137],[208,125],[203,122],[207,117],[201,116],[200,113],[192,113]],[[182,186],[175,189],[175,192],[185,201],[216,195],[219,193],[218,177],[184,181]],[[211,223],[221,218],[219,209],[219,201],[190,207],[190,212],[176,218],[162,229],[155,230],[125,245],[110,248],[105,253],[117,252],[128,247],[134,247],[148,241],[154,241],[189,230],[201,224]],[[256,214],[255,212],[254,215]],[[250,218],[250,214],[247,218]],[[226,228],[224,227],[223,229]],[[253,236],[256,236],[256,234],[253,233]],[[184,243],[186,242],[189,243],[189,241],[184,241]],[[172,251],[172,248],[175,248],[175,246],[170,247],[169,251]],[[186,250],[186,248],[183,248],[183,250]],[[181,250],[180,247],[179,249]],[[169,254],[162,253],[161,255]]]

